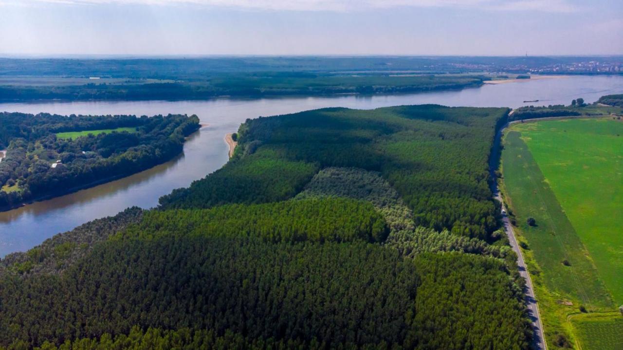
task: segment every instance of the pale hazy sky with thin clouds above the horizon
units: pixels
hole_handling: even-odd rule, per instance
[[[623,0],[0,0],[0,55],[623,54]]]

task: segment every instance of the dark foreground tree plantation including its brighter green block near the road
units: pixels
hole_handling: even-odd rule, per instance
[[[0,339],[12,339],[4,344],[62,344],[135,324],[325,348],[512,349],[527,339],[521,291],[502,262],[457,253],[411,260],[364,242],[113,240],[60,276],[6,277],[0,296]]]

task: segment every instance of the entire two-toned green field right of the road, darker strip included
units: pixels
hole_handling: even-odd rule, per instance
[[[520,123],[505,135],[503,187],[520,240],[528,244],[549,343],[560,333],[586,341],[566,320],[579,306],[612,311],[623,303],[618,135],[623,123],[605,118]],[[535,227],[526,224],[528,217]]]

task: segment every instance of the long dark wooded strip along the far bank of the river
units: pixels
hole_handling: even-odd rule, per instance
[[[265,97],[401,93],[482,85],[482,75],[333,75],[328,73],[218,73],[184,80],[0,77],[0,100],[201,100],[219,96]]]

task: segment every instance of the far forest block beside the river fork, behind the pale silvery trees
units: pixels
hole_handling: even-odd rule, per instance
[[[506,108],[326,108],[248,120],[234,159],[161,198],[164,208],[288,199],[320,168],[379,171],[416,226],[488,239],[497,228],[488,154]],[[227,189],[227,190],[225,190]]]

